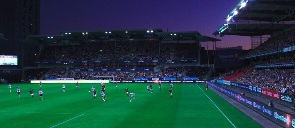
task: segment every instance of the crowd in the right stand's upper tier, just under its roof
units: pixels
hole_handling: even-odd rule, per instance
[[[295,29],[269,38],[263,44],[248,52],[245,56],[270,52],[290,46],[295,46]]]

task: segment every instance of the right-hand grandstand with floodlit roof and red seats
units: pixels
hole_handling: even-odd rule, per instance
[[[294,5],[294,0],[241,0],[225,17],[227,23],[213,33],[251,38],[251,49],[238,57],[243,67],[220,73],[215,83],[262,102],[263,109],[246,106],[283,127],[295,126]],[[268,109],[263,105],[268,100],[277,106]]]

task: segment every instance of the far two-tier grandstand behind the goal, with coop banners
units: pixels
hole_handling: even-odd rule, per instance
[[[99,76],[118,81],[204,79],[213,72],[213,63],[200,64],[200,42],[220,40],[197,31],[139,29],[64,31],[61,35],[31,35],[22,41],[26,60],[23,78],[28,82],[59,78],[93,80]],[[38,53],[29,56],[29,47],[37,47]],[[195,73],[196,70],[201,73]]]

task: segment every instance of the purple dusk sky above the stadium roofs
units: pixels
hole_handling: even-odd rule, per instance
[[[250,38],[212,35],[240,0],[40,0],[40,34],[61,31],[161,28],[164,32],[198,31],[221,39],[217,47],[243,46]],[[202,43],[204,46],[205,43]],[[212,44],[209,43],[209,49]]]

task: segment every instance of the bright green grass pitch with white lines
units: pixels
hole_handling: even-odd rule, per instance
[[[91,86],[101,89],[100,84],[80,83],[75,90],[72,83],[64,93],[62,84],[43,83],[41,101],[38,84],[12,84],[11,93],[2,84],[0,127],[261,127],[202,84],[175,83],[170,99],[168,83],[161,91],[153,84],[154,93],[147,92],[147,83],[118,83],[118,90],[106,83],[105,103],[100,93],[98,100],[88,93]],[[135,93],[131,103],[126,87]]]

